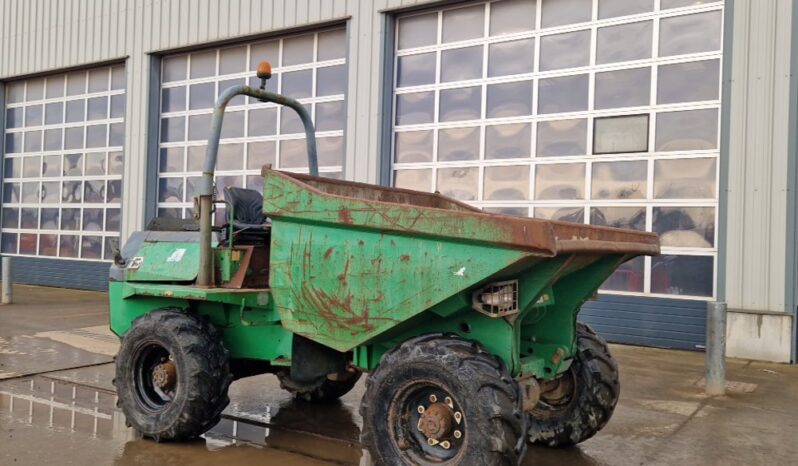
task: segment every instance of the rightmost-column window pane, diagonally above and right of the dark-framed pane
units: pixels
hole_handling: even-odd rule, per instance
[[[657,103],[717,100],[720,89],[720,60],[660,65]]]

